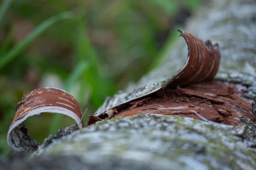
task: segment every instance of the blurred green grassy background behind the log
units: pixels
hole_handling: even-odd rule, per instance
[[[84,115],[157,66],[200,0],[0,1],[0,156],[15,105],[26,91],[58,87]],[[75,122],[41,114],[26,120],[39,142]]]

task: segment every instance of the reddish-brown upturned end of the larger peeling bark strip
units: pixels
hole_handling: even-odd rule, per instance
[[[221,55],[218,44],[212,45],[210,40],[204,43],[181,29],[178,31],[188,45],[188,58],[180,71],[164,87],[188,85],[212,79],[220,64]]]

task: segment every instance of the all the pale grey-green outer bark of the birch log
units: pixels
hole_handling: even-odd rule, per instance
[[[216,79],[243,86],[244,98],[251,104],[251,108],[248,103],[244,107],[252,115],[256,111],[256,1],[213,2],[198,11],[186,31],[219,43],[221,65]],[[179,40],[156,70],[117,96],[125,97],[129,91],[175,75],[186,60],[186,48],[186,42]],[[237,117],[243,124],[235,126],[168,115],[119,117],[48,139],[31,160],[6,160],[0,166],[254,170],[256,125],[248,117]]]

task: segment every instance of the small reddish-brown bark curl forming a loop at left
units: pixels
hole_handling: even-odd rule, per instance
[[[61,113],[72,117],[81,129],[82,112],[76,99],[65,91],[56,88],[41,88],[23,95],[16,106],[17,112],[9,127],[7,142],[17,152],[33,152],[40,143],[36,142],[24,126],[24,120],[40,113]]]

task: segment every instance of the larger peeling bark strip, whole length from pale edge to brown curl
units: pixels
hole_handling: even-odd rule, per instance
[[[202,40],[192,36],[188,32],[184,32],[181,29],[178,29],[178,31],[188,45],[188,56],[185,64],[177,74],[169,79],[163,79],[161,82],[146,85],[145,87],[137,88],[134,91],[127,91],[114,95],[112,98],[106,100],[93,116],[101,117],[103,113],[110,109],[122,108],[122,105],[125,105],[128,102],[152,94],[167,86],[176,87],[178,85],[189,85],[213,79],[220,64],[218,44],[216,43],[215,45],[212,45],[209,40],[204,43]]]

